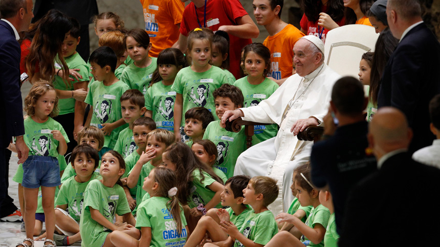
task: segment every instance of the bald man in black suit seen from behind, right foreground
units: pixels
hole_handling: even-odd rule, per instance
[[[411,159],[411,137],[396,108],[383,107],[371,120],[368,142],[379,170],[351,190],[340,247],[438,244],[440,169]]]

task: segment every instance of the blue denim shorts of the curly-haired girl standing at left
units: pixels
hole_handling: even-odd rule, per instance
[[[35,189],[40,186],[55,187],[60,184],[57,158],[32,155],[23,163],[23,182],[21,182],[21,186]]]

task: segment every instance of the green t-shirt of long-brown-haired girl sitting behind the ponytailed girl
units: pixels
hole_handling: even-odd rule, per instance
[[[189,189],[188,195],[188,206],[190,208],[194,208],[199,206],[199,204],[203,204],[204,206],[211,201],[212,197],[215,195],[215,192],[208,188],[209,185],[216,182],[209,174],[205,171],[202,171],[204,176],[204,180],[202,180],[202,176],[200,175],[199,169],[194,169],[192,171],[192,182],[191,188]],[[219,203],[215,206],[216,208],[222,208],[222,204]]]

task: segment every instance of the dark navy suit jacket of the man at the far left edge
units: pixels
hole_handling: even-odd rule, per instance
[[[0,20],[0,148],[25,134],[20,91],[20,46],[14,30]]]

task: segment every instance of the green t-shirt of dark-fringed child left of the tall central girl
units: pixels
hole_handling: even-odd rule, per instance
[[[174,132],[175,91],[171,87],[165,86],[162,81],[149,87],[145,94],[145,107],[152,111],[152,119],[158,129]]]

